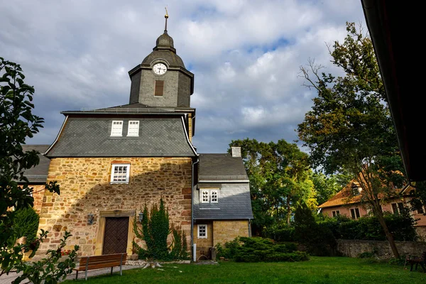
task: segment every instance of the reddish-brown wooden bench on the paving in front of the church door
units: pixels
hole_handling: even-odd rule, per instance
[[[111,267],[112,275],[114,266],[120,266],[120,275],[123,275],[122,266],[126,264],[126,258],[127,253],[105,254],[103,256],[81,256],[79,266],[75,268],[75,271],[77,271],[75,279],[78,278],[79,271],[85,271],[85,279],[87,280],[87,271],[99,268]]]

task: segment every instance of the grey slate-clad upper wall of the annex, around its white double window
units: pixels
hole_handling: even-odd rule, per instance
[[[200,188],[219,188],[217,203],[201,203]],[[253,219],[249,182],[199,183],[194,191],[194,219]]]

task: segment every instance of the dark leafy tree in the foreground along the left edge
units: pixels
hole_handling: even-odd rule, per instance
[[[34,88],[25,84],[24,79],[20,65],[0,58],[0,275],[9,273],[13,268],[18,273],[22,272],[13,283],[21,283],[25,279],[33,283],[57,283],[75,267],[73,261],[78,246],[72,251],[70,261],[55,266],[65,240],[70,236],[68,232],[65,232],[58,250],[48,251],[47,258],[31,265],[22,261],[23,252],[32,250],[33,256],[48,232],[42,231],[30,244],[16,244],[20,237],[14,228],[16,212],[32,207],[34,202],[31,196],[33,188],[28,186],[25,170],[39,163],[39,153],[24,152],[21,145],[25,144],[26,138],[38,133],[44,122],[32,113]],[[18,185],[18,182],[23,182],[23,185]],[[56,182],[45,185],[45,189],[60,193]]]

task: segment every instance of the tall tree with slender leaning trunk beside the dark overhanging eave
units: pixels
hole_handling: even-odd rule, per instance
[[[329,48],[343,77],[320,72],[324,66],[314,60],[300,67],[305,86],[318,97],[297,126],[298,136],[310,149],[315,168],[321,166],[327,174],[351,173],[362,188],[361,202],[378,217],[399,257],[381,202],[406,180],[403,163],[371,39],[354,23],[346,23],[346,30],[344,43],[335,41]]]

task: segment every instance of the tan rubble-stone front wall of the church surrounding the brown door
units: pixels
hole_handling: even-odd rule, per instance
[[[112,163],[131,164],[129,184],[110,184]],[[168,207],[170,224],[182,226],[190,244],[191,175],[190,158],[53,158],[48,182],[58,181],[60,195],[44,193],[39,230],[49,234],[40,253],[57,248],[67,230],[72,237],[65,249],[77,244],[82,256],[100,254],[102,214],[137,215],[145,204],[151,209],[160,197]],[[94,214],[93,224],[88,224],[88,214]],[[133,234],[131,229],[129,232]],[[131,253],[129,246],[127,250]]]

